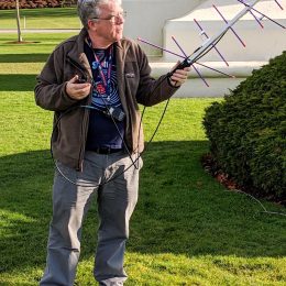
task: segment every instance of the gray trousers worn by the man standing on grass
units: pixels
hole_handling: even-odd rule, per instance
[[[133,161],[135,158],[133,155]],[[142,164],[139,158],[136,167],[131,166],[132,161],[124,152],[110,155],[86,152],[82,172],[57,164],[61,172],[77,185],[56,170],[46,268],[40,285],[74,285],[82,220],[95,194],[99,229],[94,275],[99,285],[123,285],[127,279],[123,270],[125,241],[129,238],[129,221],[138,201]]]

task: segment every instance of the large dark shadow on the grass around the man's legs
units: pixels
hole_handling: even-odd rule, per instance
[[[143,155],[140,200],[128,250],[140,253],[272,256],[286,254],[286,220],[261,215],[227,193],[200,165],[204,141],[152,143]],[[48,151],[0,158],[0,272],[45,263],[54,167]],[[274,206],[273,206],[274,207]],[[96,248],[96,206],[84,226],[81,257]]]

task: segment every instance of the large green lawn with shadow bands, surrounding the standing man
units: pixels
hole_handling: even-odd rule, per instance
[[[35,106],[33,87],[48,53],[66,36],[31,35],[40,43],[14,45],[8,43],[13,35],[0,35],[0,285],[37,285],[45,266],[53,114]],[[143,155],[127,285],[286,285],[286,218],[262,213],[253,199],[228,191],[201,167],[209,147],[201,119],[213,100],[172,99]],[[146,141],[164,106],[146,110]],[[94,204],[76,285],[96,285],[97,223]]]

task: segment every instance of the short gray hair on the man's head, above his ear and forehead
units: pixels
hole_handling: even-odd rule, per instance
[[[101,10],[100,4],[107,4],[110,2],[116,2],[121,6],[121,0],[78,0],[77,2],[77,13],[82,23],[82,25],[88,29],[88,20],[92,18],[99,18]]]

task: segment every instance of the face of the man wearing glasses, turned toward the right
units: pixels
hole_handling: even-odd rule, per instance
[[[97,37],[106,43],[112,44],[122,38],[124,14],[122,8],[110,2],[100,6],[101,14],[90,26],[90,32],[95,31]]]

